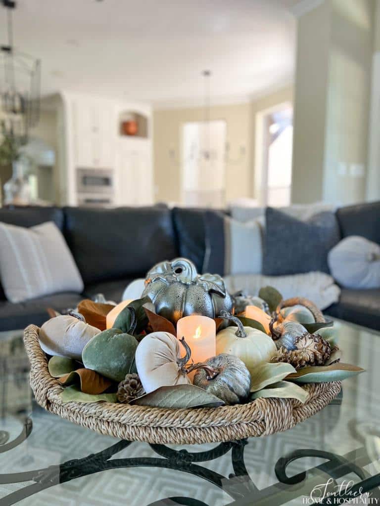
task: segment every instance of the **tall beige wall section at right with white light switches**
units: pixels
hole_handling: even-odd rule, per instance
[[[292,202],[365,199],[373,0],[328,0],[297,23]]]

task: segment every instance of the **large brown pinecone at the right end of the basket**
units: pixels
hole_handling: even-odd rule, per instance
[[[324,365],[331,355],[330,343],[318,334],[305,332],[294,341],[294,345],[296,349],[293,351],[281,347],[273,361],[288,362],[299,369],[307,365]]]

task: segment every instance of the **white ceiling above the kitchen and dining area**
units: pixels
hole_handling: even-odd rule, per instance
[[[157,105],[238,101],[292,81],[297,0],[18,0],[15,46],[42,60],[42,93]],[[6,12],[0,8],[0,43]],[[4,40],[3,40],[4,39]]]

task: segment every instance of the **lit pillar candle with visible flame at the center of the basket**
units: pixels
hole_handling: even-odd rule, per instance
[[[192,351],[192,360],[204,362],[216,355],[216,325],[208,316],[185,316],[177,322],[177,338],[185,338]]]

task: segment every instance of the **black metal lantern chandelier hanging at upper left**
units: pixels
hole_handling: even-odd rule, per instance
[[[0,47],[1,134],[27,141],[28,130],[40,115],[40,60],[13,46],[12,11],[16,2],[1,0],[7,10],[8,44]]]

